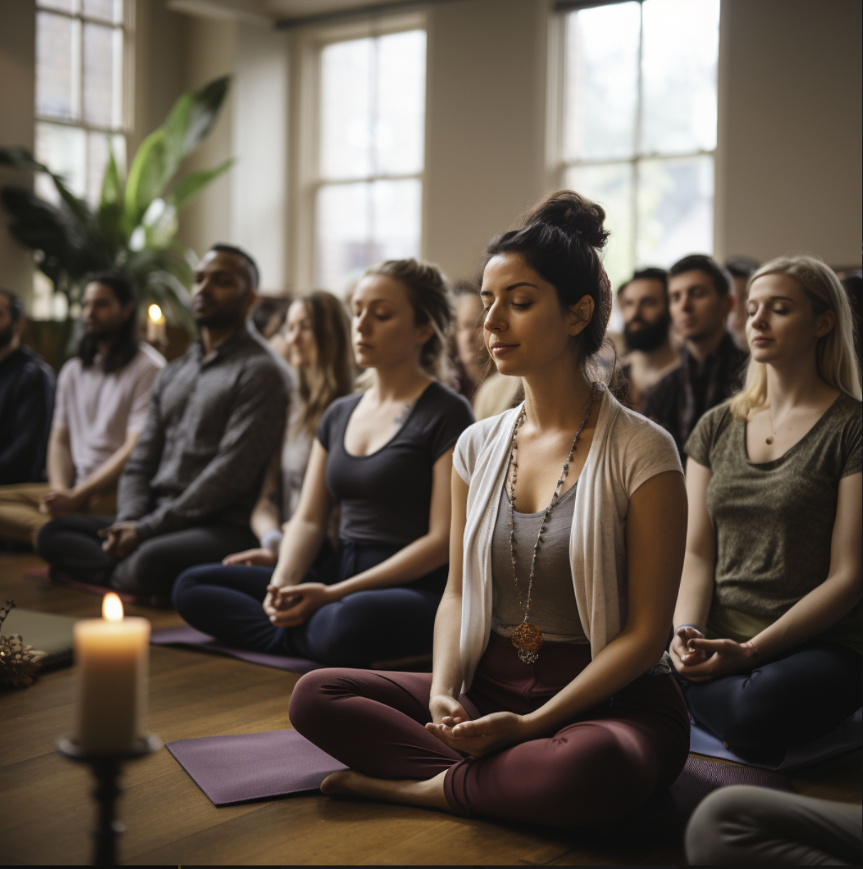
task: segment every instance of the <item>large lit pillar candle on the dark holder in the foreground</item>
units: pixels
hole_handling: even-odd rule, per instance
[[[78,746],[88,753],[127,752],[141,735],[147,702],[149,621],[123,618],[123,602],[106,594],[101,619],[76,621],[80,675]]]

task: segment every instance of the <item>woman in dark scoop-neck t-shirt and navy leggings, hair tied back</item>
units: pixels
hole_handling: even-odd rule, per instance
[[[384,262],[350,306],[368,388],[323,413],[275,568],[193,568],[177,580],[174,603],[235,647],[368,667],[431,650],[453,448],[473,415],[438,380],[454,319],[438,269]],[[328,557],[336,504],[340,542]]]

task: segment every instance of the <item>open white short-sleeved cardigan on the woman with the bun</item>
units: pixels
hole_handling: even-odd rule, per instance
[[[602,392],[594,440],[575,492],[569,537],[575,601],[592,658],[626,624],[629,499],[656,474],[683,473],[671,435],[623,407],[607,389]],[[455,445],[455,470],[469,487],[461,597],[464,690],[471,685],[491,633],[491,541],[522,406],[476,422]],[[542,594],[541,587],[536,591]]]

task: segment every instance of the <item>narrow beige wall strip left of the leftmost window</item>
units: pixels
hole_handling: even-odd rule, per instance
[[[0,26],[0,145],[33,149],[34,80],[36,65],[36,3],[3,3]],[[0,187],[30,186],[32,176],[0,169]],[[21,295],[30,307],[33,261],[30,252],[6,231],[9,216],[0,209],[0,286]]]

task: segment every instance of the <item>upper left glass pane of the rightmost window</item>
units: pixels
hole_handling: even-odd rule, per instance
[[[640,18],[638,3],[598,6],[568,16],[568,159],[632,156]]]

